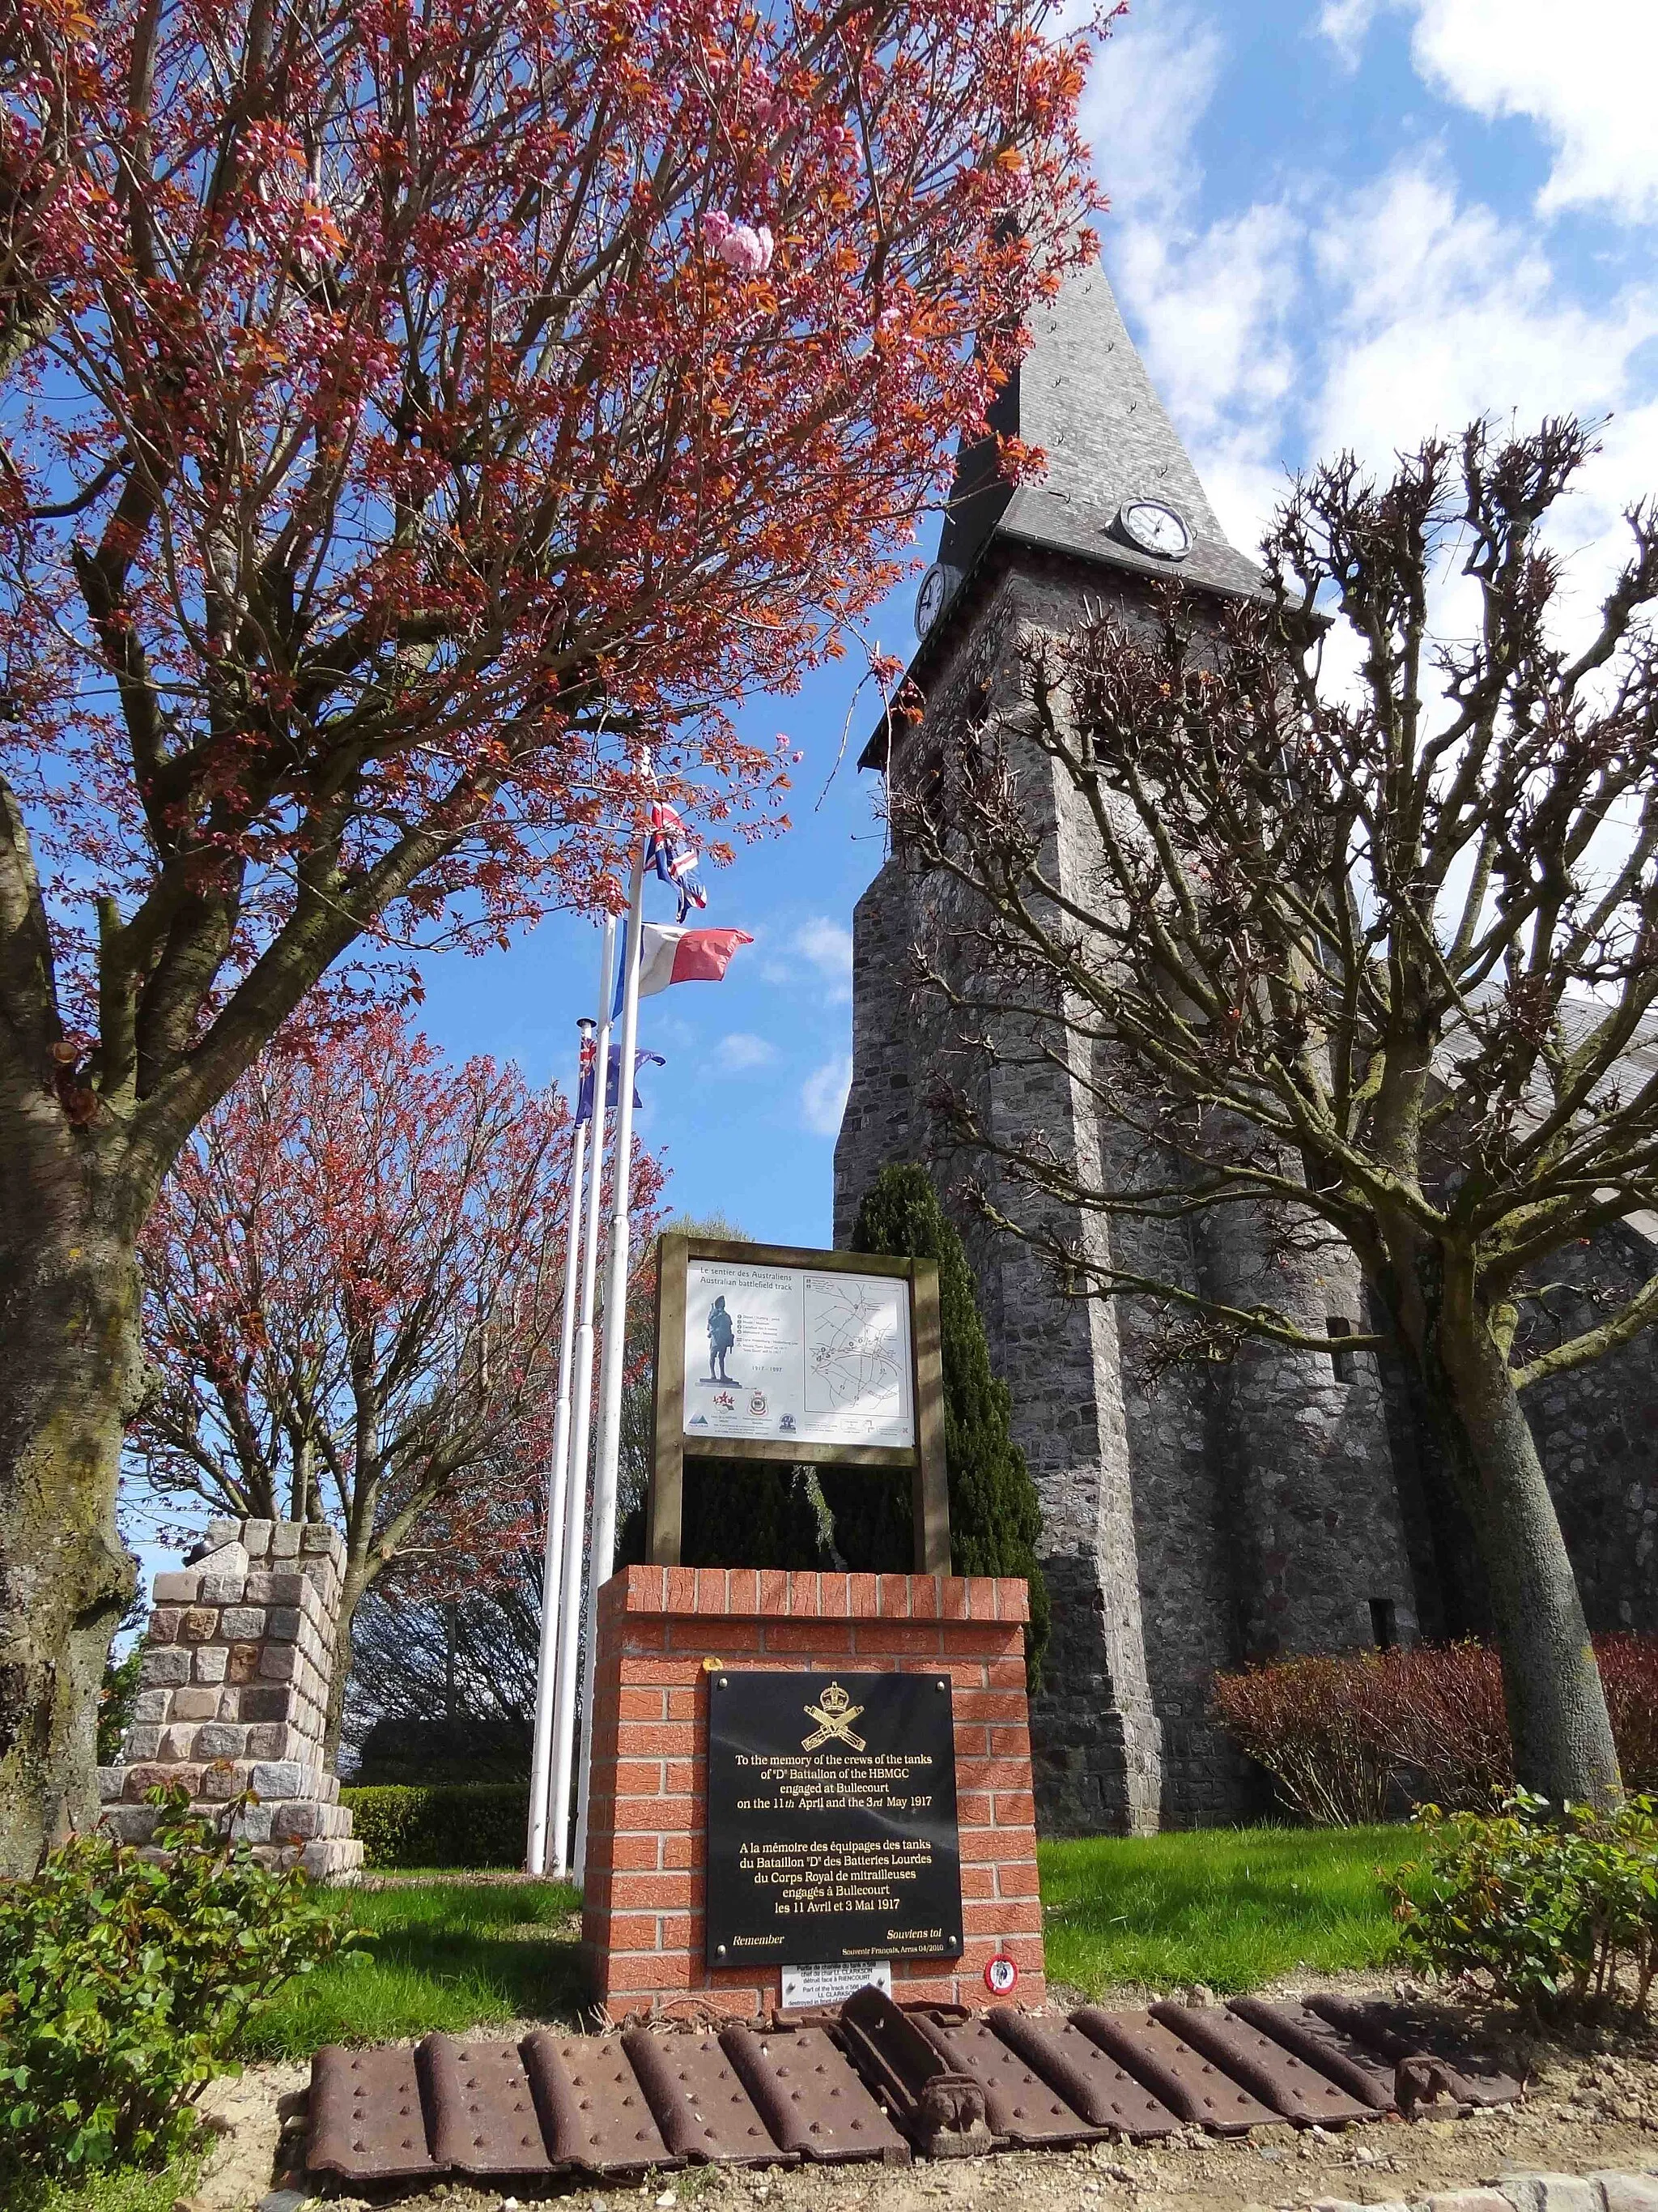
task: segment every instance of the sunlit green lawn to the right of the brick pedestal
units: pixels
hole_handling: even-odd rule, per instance
[[[1295,1966],[1382,1966],[1395,1933],[1377,1867],[1408,1827],[1242,1827],[1043,1843],[1048,1978],[1101,1995],[1121,1982],[1231,1995]]]

